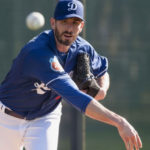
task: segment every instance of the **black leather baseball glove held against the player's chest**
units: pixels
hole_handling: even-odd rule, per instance
[[[95,97],[100,90],[94,75],[90,71],[90,59],[87,53],[78,54],[73,80],[80,90],[86,90],[87,94],[92,97]]]

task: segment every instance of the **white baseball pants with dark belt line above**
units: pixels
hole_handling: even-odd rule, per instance
[[[44,117],[31,121],[18,119],[4,113],[0,103],[0,150],[57,150],[60,103],[57,108]]]

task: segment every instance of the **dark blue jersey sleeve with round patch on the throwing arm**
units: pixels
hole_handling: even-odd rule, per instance
[[[47,51],[50,51],[49,49]],[[57,57],[46,50],[33,50],[24,58],[23,75],[26,78],[40,80],[43,83],[51,82],[65,71],[58,62]]]

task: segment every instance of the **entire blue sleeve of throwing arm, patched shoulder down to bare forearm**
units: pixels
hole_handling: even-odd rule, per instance
[[[88,103],[93,99],[78,89],[54,54],[32,52],[24,59],[23,67],[26,78],[43,82],[81,112],[85,112]]]

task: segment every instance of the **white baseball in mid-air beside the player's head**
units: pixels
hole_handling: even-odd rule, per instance
[[[26,17],[26,25],[30,30],[38,30],[45,24],[45,18],[40,12],[31,12]]]

